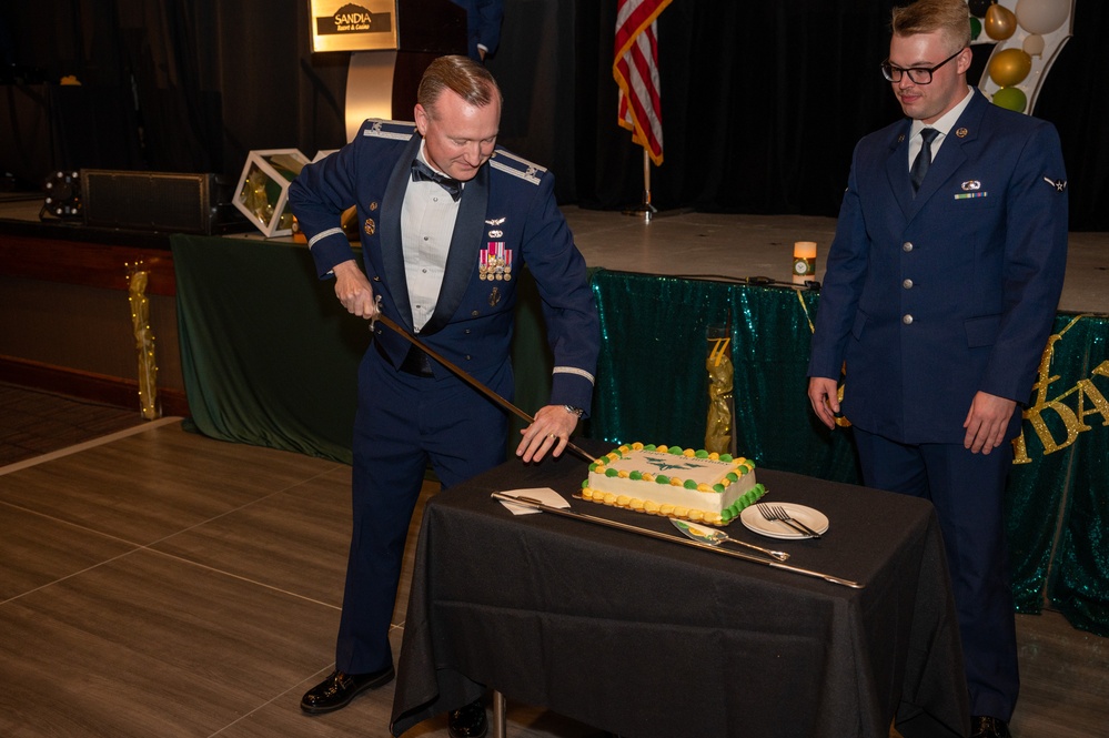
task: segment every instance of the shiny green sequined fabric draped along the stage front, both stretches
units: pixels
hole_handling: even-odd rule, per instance
[[[806,395],[819,295],[598,271],[604,343],[592,435],[702,447],[708,326],[726,323],[739,453],[760,466],[860,481],[849,428]],[[1059,314],[1007,487],[1017,609],[1050,605],[1109,635],[1109,317]]]

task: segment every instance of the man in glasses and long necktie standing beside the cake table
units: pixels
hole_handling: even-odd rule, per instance
[[[935,504],[970,735],[1008,736],[1019,680],[1002,496],[1062,289],[1066,174],[1052,125],[968,88],[964,0],[897,8],[893,31],[883,72],[907,118],[855,149],[808,395],[835,427],[843,367],[865,483]]]

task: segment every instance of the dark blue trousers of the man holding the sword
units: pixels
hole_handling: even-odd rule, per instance
[[[508,362],[477,378],[512,398]],[[366,352],[359,367],[353,529],[336,669],[364,674],[392,664],[389,628],[427,463],[446,489],[501,464],[506,433],[505,412],[463,381],[405,374],[375,347]]]

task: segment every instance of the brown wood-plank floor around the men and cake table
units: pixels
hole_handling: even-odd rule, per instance
[[[0,736],[386,736],[392,685],[299,707],[333,667],[350,468],[179,418],[102,441],[0,467]],[[1018,628],[1018,738],[1106,736],[1109,639],[1053,614]],[[508,718],[514,737],[602,735],[513,702]]]

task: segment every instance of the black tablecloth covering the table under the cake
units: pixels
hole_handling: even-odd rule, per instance
[[[819,540],[727,532],[863,589],[565,517],[514,516],[494,491],[587,475],[508,462],[426,506],[392,731],[481,697],[632,738],[966,735],[957,616],[930,504],[758,469],[768,501],[809,505]],[[677,534],[665,518],[573,499]]]

